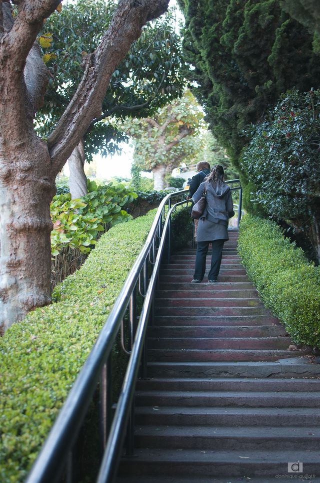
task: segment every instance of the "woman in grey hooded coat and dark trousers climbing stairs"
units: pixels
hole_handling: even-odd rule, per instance
[[[205,208],[196,232],[197,249],[192,283],[200,283],[203,280],[209,243],[212,244],[212,256],[208,282],[217,281],[223,244],[229,239],[228,220],[234,215],[230,187],[224,183],[224,170],[220,164],[213,166],[209,176],[193,194],[194,203],[202,197],[205,186]]]

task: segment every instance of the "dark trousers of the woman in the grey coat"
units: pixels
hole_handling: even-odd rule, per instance
[[[202,280],[205,274],[205,259],[209,243],[212,243],[211,268],[208,280],[216,280],[219,274],[224,240],[198,241],[195,254],[195,268],[193,278]]]

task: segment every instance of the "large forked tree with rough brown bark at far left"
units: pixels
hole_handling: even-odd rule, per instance
[[[101,114],[110,77],[142,26],[168,4],[119,1],[100,45],[85,57],[76,93],[45,143],[35,135],[33,115],[42,102],[47,70],[32,46],[59,2],[14,2],[14,22],[9,4],[0,2],[0,330],[50,302],[49,204],[55,176],[91,120]]]

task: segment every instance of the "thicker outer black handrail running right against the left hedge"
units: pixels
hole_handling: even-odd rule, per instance
[[[110,387],[106,379],[110,368],[110,354],[114,340],[129,305],[130,334],[132,337],[134,335],[135,314],[132,306],[135,296],[133,294],[137,287],[142,295],[146,294],[148,265],[155,264],[155,254],[161,239],[165,207],[168,205],[167,209],[170,209],[172,198],[177,196],[183,198],[187,193],[188,190],[176,191],[166,195],[160,202],[145,244],[27,476],[26,483],[58,481],[65,463],[67,464],[68,480],[72,481],[72,455],[68,455],[68,452],[71,451],[76,440],[98,382],[100,382],[103,390],[106,390],[106,394],[101,395],[102,406],[104,406],[101,417],[103,424],[102,444],[105,445],[106,433],[110,427],[111,419]]]

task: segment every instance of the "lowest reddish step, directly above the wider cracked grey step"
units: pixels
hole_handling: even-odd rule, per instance
[[[240,362],[277,361],[288,357],[299,357],[306,350],[260,350],[260,349],[149,349],[149,361],[177,362]]]

